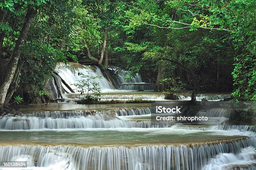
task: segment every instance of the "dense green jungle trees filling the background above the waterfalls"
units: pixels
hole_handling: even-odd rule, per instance
[[[58,62],[256,100],[254,0],[1,0],[0,107],[47,95]]]

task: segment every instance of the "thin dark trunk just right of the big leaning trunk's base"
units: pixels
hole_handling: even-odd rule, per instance
[[[8,107],[8,104],[9,104],[9,101],[10,99],[12,98],[13,96],[13,93],[15,92],[15,90],[17,89],[17,86],[18,86],[18,78],[19,78],[19,75],[20,75],[20,71],[22,69],[22,66],[23,66],[23,63],[25,61],[21,61],[19,60],[18,62],[18,65],[17,65],[17,69],[15,71],[15,74],[14,74],[14,77],[13,77],[13,81],[12,83],[10,84],[10,87],[8,89],[8,92],[7,92],[7,95],[5,97],[5,103],[4,103],[4,107],[7,108]]]

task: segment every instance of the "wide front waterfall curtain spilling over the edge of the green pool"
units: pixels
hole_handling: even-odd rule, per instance
[[[26,157],[28,165],[48,167],[58,162],[71,170],[199,170],[221,153],[238,154],[256,145],[252,138],[188,145],[82,147],[73,145],[2,145],[0,160]],[[58,167],[56,167],[58,168]]]

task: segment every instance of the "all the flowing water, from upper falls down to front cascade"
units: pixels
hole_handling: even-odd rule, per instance
[[[190,99],[178,94],[176,101],[164,100],[160,92],[145,91],[154,84],[143,82],[139,74],[127,80],[128,71],[108,69],[119,70],[113,77],[118,87],[97,66],[60,64],[56,81],[65,102],[71,103],[19,106],[21,114],[0,117],[0,161],[27,161],[28,167],[19,170],[255,170],[256,128],[233,124],[230,109],[188,106],[182,108],[186,114],[206,116],[212,124],[155,125],[154,104],[76,104],[79,94],[61,82],[77,92],[72,85],[81,79],[77,73],[90,72],[103,76],[97,80],[105,92],[102,100],[150,99],[175,106]],[[55,84],[54,89],[58,94]],[[229,97],[199,94],[197,100]]]

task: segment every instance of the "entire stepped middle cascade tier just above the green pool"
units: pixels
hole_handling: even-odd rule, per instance
[[[183,107],[182,110],[193,116],[206,116],[209,119],[220,121],[215,126],[184,126],[175,124],[175,122],[161,121],[157,125],[152,126],[150,114],[154,112],[154,107],[127,107],[127,108],[110,108],[105,110],[77,110],[77,111],[44,111],[21,114],[13,116],[11,114],[0,117],[0,129],[3,130],[27,130],[27,129],[84,129],[84,128],[148,128],[148,127],[171,127],[176,129],[220,129],[256,132],[255,126],[236,125],[232,121],[228,121],[230,110],[225,109],[209,109],[200,111],[194,107]],[[183,111],[182,111],[183,112]],[[149,115],[143,119],[133,119],[132,116]],[[221,119],[226,117],[226,119]],[[224,122],[223,122],[224,121]],[[221,123],[222,122],[222,123]],[[175,125],[175,126],[174,126]]]

